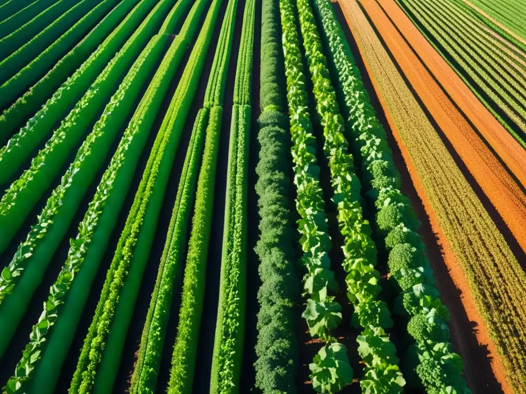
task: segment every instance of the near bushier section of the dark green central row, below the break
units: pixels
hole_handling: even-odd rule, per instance
[[[264,4],[268,2],[265,0]],[[295,393],[298,345],[294,305],[299,280],[294,269],[294,230],[290,221],[288,117],[267,110],[258,123],[261,149],[256,192],[261,235],[256,253],[262,285],[258,292],[256,387],[265,392]]]

